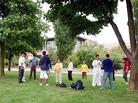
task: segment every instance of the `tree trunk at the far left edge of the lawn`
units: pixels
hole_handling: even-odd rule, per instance
[[[0,76],[4,76],[4,43],[0,42]]]

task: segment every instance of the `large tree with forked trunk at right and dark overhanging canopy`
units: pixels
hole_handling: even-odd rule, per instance
[[[119,44],[126,56],[130,59],[132,69],[129,81],[129,90],[138,91],[138,44],[136,42],[136,33],[134,27],[133,9],[131,0],[126,1],[128,13],[128,29],[130,37],[129,50],[122,39],[118,26],[113,21],[113,14],[117,12],[118,0],[43,0],[50,4],[48,15],[51,20],[59,19],[71,30],[76,30],[75,34],[88,32],[88,34],[97,33],[108,23],[112,26]],[[87,16],[94,19],[89,20]],[[75,23],[74,23],[75,22]],[[75,26],[76,24],[77,26]],[[75,31],[74,30],[74,31]]]

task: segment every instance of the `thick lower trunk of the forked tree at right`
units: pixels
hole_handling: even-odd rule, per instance
[[[131,66],[128,90],[138,92],[138,59],[136,57],[132,60]]]

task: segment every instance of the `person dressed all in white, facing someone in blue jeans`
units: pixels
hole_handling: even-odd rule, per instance
[[[99,60],[99,55],[96,55],[96,59],[92,62],[93,66],[93,80],[92,86],[101,86],[101,67],[102,62]]]

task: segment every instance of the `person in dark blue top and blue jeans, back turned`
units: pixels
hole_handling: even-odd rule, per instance
[[[106,59],[102,62],[104,74],[102,78],[101,89],[105,89],[106,80],[109,79],[110,89],[113,89],[113,61],[109,54],[106,54]]]

